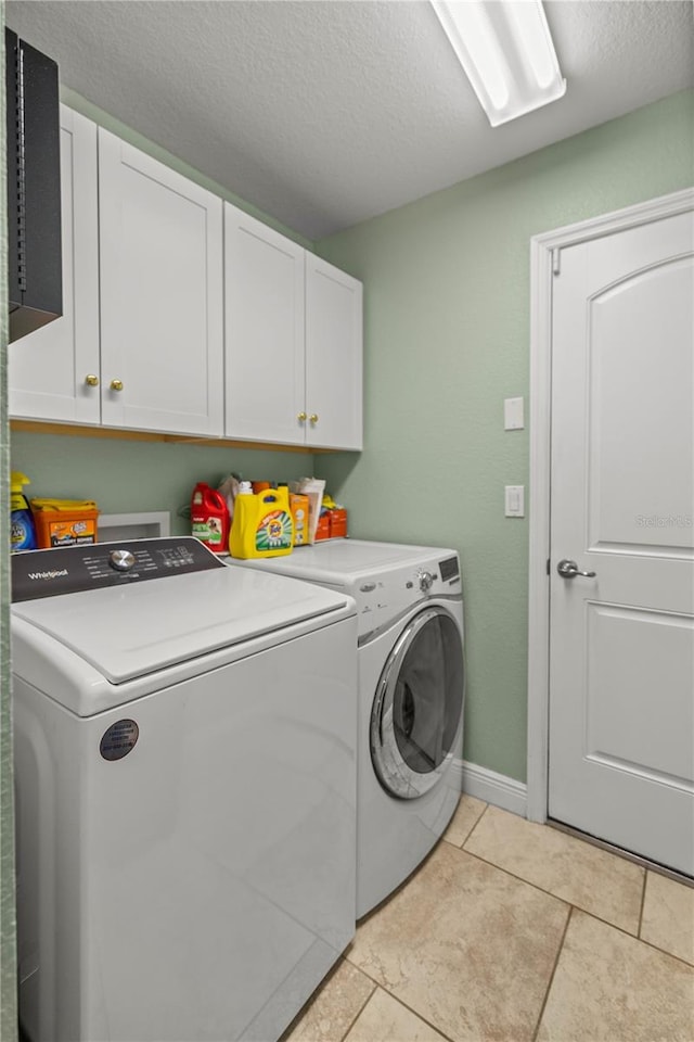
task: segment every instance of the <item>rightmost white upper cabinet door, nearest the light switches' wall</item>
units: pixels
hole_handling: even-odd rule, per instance
[[[362,338],[361,282],[307,253],[308,446],[361,449]]]

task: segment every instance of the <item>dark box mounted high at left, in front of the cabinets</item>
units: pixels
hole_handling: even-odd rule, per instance
[[[10,340],[63,314],[57,65],[5,29]]]

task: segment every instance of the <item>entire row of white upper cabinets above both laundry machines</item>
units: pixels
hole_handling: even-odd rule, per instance
[[[357,279],[65,106],[61,178],[63,317],[10,344],[11,416],[361,449]]]

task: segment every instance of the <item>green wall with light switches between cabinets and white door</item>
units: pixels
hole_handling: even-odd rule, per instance
[[[503,399],[529,390],[531,236],[694,181],[682,92],[323,240],[364,282],[365,452],[322,475],[355,536],[451,546],[464,570],[465,759],[526,772],[528,431]]]

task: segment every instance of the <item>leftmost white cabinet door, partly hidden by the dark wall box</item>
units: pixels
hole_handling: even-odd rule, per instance
[[[99,423],[97,125],[64,105],[61,209],[63,315],[9,345],[10,415]]]

